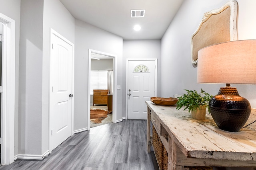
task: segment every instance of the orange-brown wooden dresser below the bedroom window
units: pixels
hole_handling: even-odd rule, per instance
[[[107,105],[109,90],[95,89],[93,90],[93,106],[94,104]]]

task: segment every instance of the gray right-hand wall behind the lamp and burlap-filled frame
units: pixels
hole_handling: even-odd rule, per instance
[[[197,66],[191,64],[191,36],[196,31],[205,12],[220,8],[227,0],[184,0],[174,20],[162,38],[160,96],[183,94],[184,89],[200,90],[216,95],[225,84],[197,84]],[[256,39],[256,14],[254,0],[238,2],[238,39]],[[247,98],[256,108],[256,86],[236,85],[240,96]]]

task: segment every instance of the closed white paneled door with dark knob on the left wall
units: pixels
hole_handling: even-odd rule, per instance
[[[50,56],[50,152],[72,132],[73,46],[51,34]]]

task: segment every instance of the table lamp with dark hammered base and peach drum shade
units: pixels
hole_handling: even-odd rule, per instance
[[[240,131],[251,106],[230,84],[256,84],[256,40],[228,41],[200,49],[197,82],[226,84],[211,98],[210,113],[220,129]]]

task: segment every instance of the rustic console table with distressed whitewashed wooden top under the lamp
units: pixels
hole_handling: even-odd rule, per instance
[[[158,106],[150,101],[146,105],[148,152],[152,122],[168,152],[168,170],[184,170],[186,166],[256,167],[256,123],[228,132],[220,130],[208,113],[201,121],[176,106]],[[247,122],[254,121],[255,115],[252,109]]]

